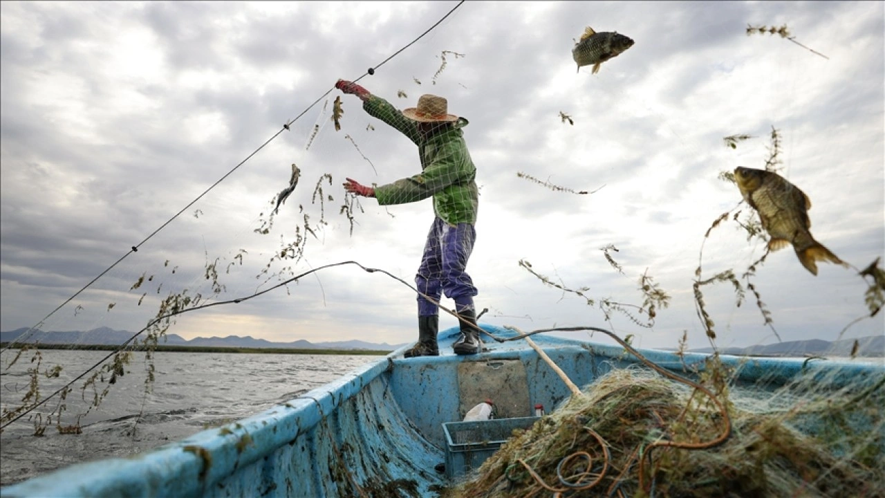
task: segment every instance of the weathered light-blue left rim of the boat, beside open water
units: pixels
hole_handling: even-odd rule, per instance
[[[144,495],[198,495],[237,469],[258,462],[310,432],[322,418],[334,413],[342,402],[356,396],[389,368],[388,355],[253,416],[197,432],[129,458],[77,463],[4,486],[3,495],[10,498],[40,495],[49,486],[55,486],[53,483],[65,483],[68,489],[80,488],[83,495],[104,495],[108,491],[117,492],[122,487],[120,482],[128,483],[132,486],[130,489],[140,488]],[[281,427],[293,427],[295,431],[281,430]],[[255,440],[261,444],[250,444]],[[114,477],[94,479],[94,473]]]

